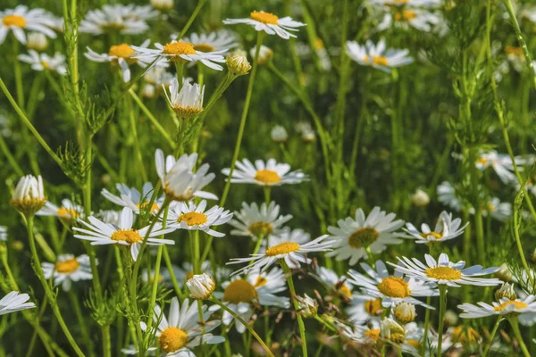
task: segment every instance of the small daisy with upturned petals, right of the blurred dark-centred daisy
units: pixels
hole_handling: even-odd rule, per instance
[[[433,230],[426,223],[421,226],[421,231],[411,223],[406,223],[404,230],[409,233],[408,238],[415,239],[415,243],[428,244],[454,239],[464,233],[464,229],[468,224],[465,223],[463,227],[460,227],[462,220],[459,218],[452,220],[452,213],[443,211],[440,213],[440,218]]]

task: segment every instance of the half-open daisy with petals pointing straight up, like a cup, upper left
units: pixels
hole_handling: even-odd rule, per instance
[[[188,119],[203,112],[203,97],[205,95],[205,86],[193,85],[188,80],[182,80],[182,86],[179,89],[179,80],[172,79],[172,85],[169,87],[168,95],[164,85],[163,93],[172,106],[173,112],[176,112],[180,118]]]

